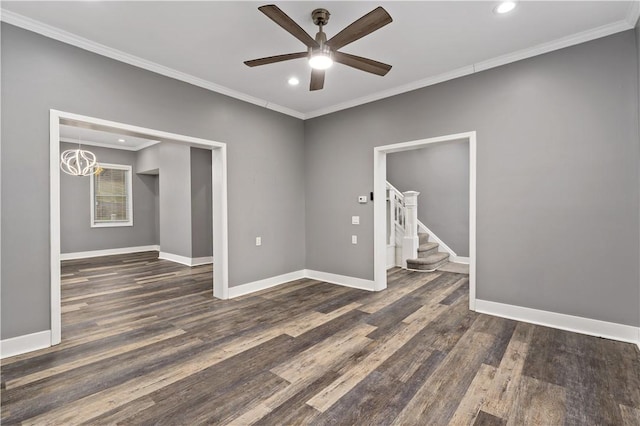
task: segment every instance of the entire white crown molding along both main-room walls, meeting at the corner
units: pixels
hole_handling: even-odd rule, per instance
[[[377,101],[380,99],[388,98],[391,96],[399,95],[405,92],[409,92],[423,87],[431,86],[434,84],[442,83],[455,78],[463,77],[495,68],[501,65],[506,65],[523,59],[531,58],[533,56],[541,55],[544,53],[552,52],[554,50],[563,49],[565,47],[573,46],[576,44],[591,41],[600,37],[606,37],[608,35],[616,34],[621,31],[626,31],[635,27],[638,18],[640,17],[640,0],[634,1],[629,7],[627,16],[625,19],[614,22],[608,25],[603,25],[598,28],[583,31],[574,35],[563,37],[548,43],[543,43],[531,48],[523,49],[514,53],[498,56],[493,59],[471,64],[465,67],[458,68],[456,70],[432,76],[423,80],[418,80],[413,83],[405,84],[395,87],[393,89],[377,92],[368,96],[364,96],[351,101],[343,102],[340,104],[332,105],[326,108],[321,108],[309,113],[302,113],[293,109],[277,105],[268,102],[264,99],[259,99],[250,95],[247,95],[236,90],[229,89],[227,87],[212,83],[210,81],[192,76],[190,74],[175,70],[173,68],[165,67],[155,62],[148,61],[146,59],[139,58],[137,56],[122,52],[117,49],[110,48],[108,46],[93,42],[91,40],[79,37],[75,34],[60,30],[56,27],[44,24],[40,21],[36,21],[31,18],[27,18],[23,15],[13,13],[6,9],[0,9],[0,19],[9,24],[24,28],[29,31],[36,32],[46,37],[67,43],[84,50],[88,50],[93,53],[97,53],[102,56],[115,59],[120,62],[124,62],[139,68],[143,68],[167,77],[171,77],[177,80],[181,80],[195,86],[211,90],[216,93],[220,93],[226,96],[230,96],[241,101],[245,101],[254,105],[258,105],[267,109],[271,109],[277,112],[281,112],[292,117],[296,117],[302,120],[319,117],[322,115],[330,114],[336,111],[353,108],[358,105],[366,104],[369,102]]]

